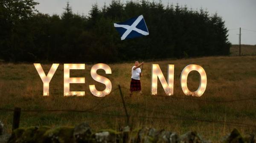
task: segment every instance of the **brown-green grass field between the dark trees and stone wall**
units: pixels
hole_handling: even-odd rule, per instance
[[[158,81],[158,93],[162,96],[150,95],[151,64],[159,64],[167,78],[167,64],[175,64],[174,95],[163,96],[163,88]],[[197,97],[185,96],[180,88],[180,73],[188,64],[199,64],[207,73],[205,93]],[[92,65],[85,70],[71,70],[71,77],[85,77],[85,84],[71,84],[70,90],[85,91],[84,97],[63,96],[63,64],[60,64],[50,82],[50,96],[43,97],[43,83],[33,64],[0,64],[0,108],[13,109],[76,109],[91,112],[22,112],[20,126],[74,126],[87,121],[93,129],[118,129],[125,126],[125,115],[119,90],[120,84],[125,95],[131,124],[134,128],[141,126],[168,129],[180,134],[195,130],[206,138],[219,140],[233,128],[243,134],[256,132],[255,126],[230,126],[230,122],[256,123],[256,56],[218,56],[195,59],[180,59],[146,62],[143,67],[143,95],[135,93],[129,97],[133,63],[108,64],[112,74],[104,75],[112,82],[112,92],[105,98],[97,98],[90,94],[89,84],[96,84],[103,90],[103,84],[96,83],[90,76]],[[45,72],[51,64],[44,64]],[[199,74],[192,71],[188,77],[188,87],[196,90],[199,85]],[[254,100],[222,103],[218,101],[254,98]],[[207,101],[205,101],[207,100]],[[92,113],[94,112],[94,113]],[[97,114],[96,114],[97,113]],[[106,115],[111,114],[111,115]],[[0,111],[0,120],[7,125],[8,132],[12,128],[12,112]],[[147,118],[148,117],[148,118]],[[151,118],[157,117],[157,118]],[[197,120],[194,120],[197,119]],[[204,122],[204,120],[224,121],[224,123]]]

